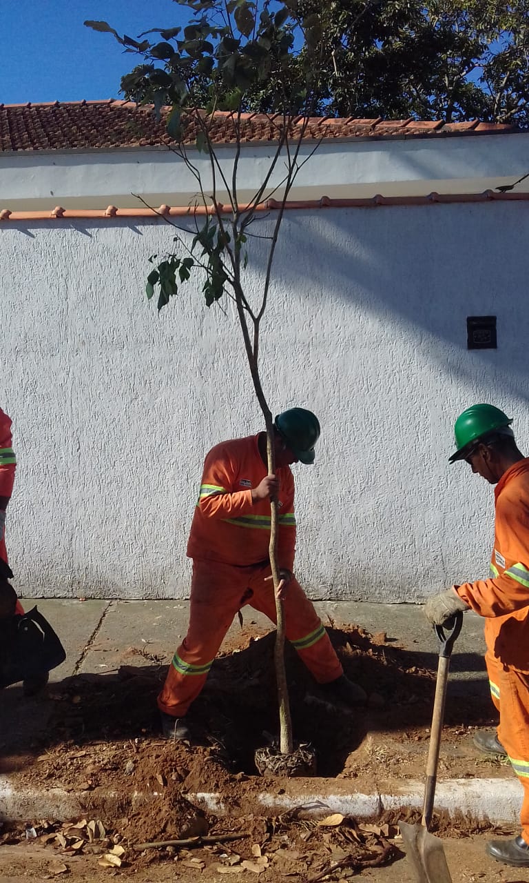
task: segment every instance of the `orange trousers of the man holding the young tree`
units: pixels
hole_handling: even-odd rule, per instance
[[[202,690],[212,662],[234,616],[246,604],[276,622],[270,565],[232,567],[195,560],[188,633],[173,657],[158,697],[162,712],[182,717]],[[313,604],[296,579],[283,601],[285,632],[318,683],[343,674],[331,641]]]

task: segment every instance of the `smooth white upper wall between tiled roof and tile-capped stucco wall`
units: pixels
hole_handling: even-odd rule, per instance
[[[481,193],[525,175],[528,141],[527,132],[323,141],[314,159],[299,170],[290,199]],[[300,159],[314,147],[309,140],[303,143]],[[216,153],[231,181],[235,147],[218,147]],[[273,145],[244,145],[237,175],[241,203],[253,199],[273,155]],[[190,158],[205,192],[212,192],[209,156],[190,148]],[[278,162],[268,192],[284,175],[284,163]],[[526,190],[527,181],[516,188]],[[11,211],[143,208],[138,195],[154,207],[187,206],[197,198],[197,181],[174,152],[163,148],[17,151],[0,154],[0,194],[0,209]],[[227,201],[220,181],[217,198]]]

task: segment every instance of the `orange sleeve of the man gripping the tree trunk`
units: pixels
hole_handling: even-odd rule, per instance
[[[235,469],[221,445],[205,458],[198,495],[198,508],[206,518],[233,518],[245,515],[252,507],[251,489],[232,491]]]

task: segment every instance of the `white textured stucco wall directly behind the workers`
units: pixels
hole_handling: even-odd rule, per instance
[[[487,572],[492,489],[446,458],[454,418],[483,400],[529,449],[528,214],[287,212],[262,364],[272,407],[309,406],[323,426],[317,464],[294,467],[313,597],[412,601]],[[0,229],[0,404],[19,457],[7,540],[26,596],[186,597],[205,452],[260,428],[230,306],[190,291],[159,317],[143,297],[171,237],[158,221]],[[488,313],[497,351],[466,351],[466,316]]]

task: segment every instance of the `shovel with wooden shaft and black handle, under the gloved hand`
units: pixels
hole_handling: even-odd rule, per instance
[[[439,639],[439,664],[437,667],[436,698],[434,699],[434,713],[432,715],[432,728],[428,749],[428,763],[426,766],[426,787],[424,789],[424,804],[422,806],[421,824],[408,825],[399,822],[399,829],[406,847],[406,856],[414,867],[417,883],[452,883],[451,873],[446,864],[443,841],[434,837],[428,831],[434,809],[434,797],[436,796],[437,762],[439,760],[439,745],[441,743],[441,730],[443,729],[444,700],[446,698],[446,683],[448,681],[448,669],[454,642],[461,631],[463,613],[451,616],[443,625],[436,625],[436,635]]]

